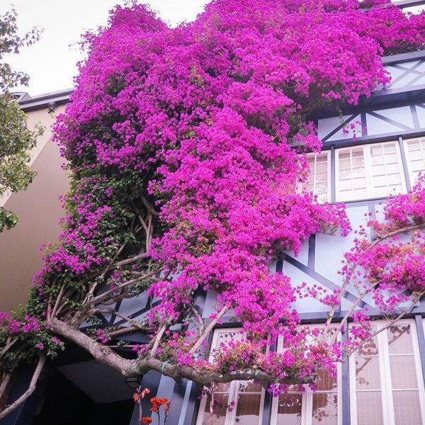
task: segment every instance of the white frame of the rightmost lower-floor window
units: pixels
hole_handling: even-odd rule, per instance
[[[378,326],[378,329],[381,329],[386,324],[387,321],[374,321],[374,325]],[[416,380],[418,382],[418,391],[419,391],[419,405],[421,409],[422,420],[425,420],[425,388],[424,388],[424,379],[421,369],[421,357],[419,353],[419,343],[416,334],[416,324],[414,319],[400,319],[395,322],[394,326],[398,324],[409,324],[410,332],[412,336],[412,346],[413,346],[413,355],[414,355],[414,365],[416,370]],[[387,329],[381,331],[376,339],[378,341],[378,358],[380,364],[380,380],[381,380],[381,402],[382,402],[382,423],[383,425],[395,425],[395,411],[394,403],[392,399],[392,380],[391,380],[391,367],[390,367],[390,353],[388,349],[388,336]],[[350,374],[350,416],[351,416],[351,425],[357,425],[357,398],[356,398],[356,361],[355,361],[356,352],[352,353],[349,358],[349,374]],[[409,354],[412,356],[412,354]],[[408,391],[409,389],[403,389],[403,391]],[[416,388],[414,388],[416,391]]]

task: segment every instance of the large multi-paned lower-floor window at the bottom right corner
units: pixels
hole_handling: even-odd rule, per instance
[[[424,423],[424,382],[412,321],[400,320],[380,332],[349,363],[352,425]]]

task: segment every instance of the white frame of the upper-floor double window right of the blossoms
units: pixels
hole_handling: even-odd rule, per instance
[[[335,198],[336,202],[355,202],[358,200],[365,200],[365,199],[373,199],[373,198],[386,198],[387,196],[391,196],[391,194],[387,196],[375,196],[373,193],[373,176],[372,176],[372,164],[371,164],[371,157],[370,157],[370,148],[373,145],[381,145],[384,147],[385,145],[395,144],[395,152],[397,154],[397,160],[400,167],[400,177],[402,179],[402,191],[401,193],[407,193],[407,186],[406,186],[406,179],[404,177],[404,166],[402,162],[402,155],[400,152],[399,142],[398,140],[391,140],[389,142],[379,142],[379,143],[368,143],[367,145],[353,145],[349,147],[340,147],[338,149],[335,149]],[[340,200],[339,199],[339,154],[348,152],[350,149],[353,148],[363,148],[363,158],[365,162],[365,180],[366,180],[366,197],[365,198],[356,198],[356,199],[350,199],[350,200]],[[385,162],[384,162],[385,166]]]

